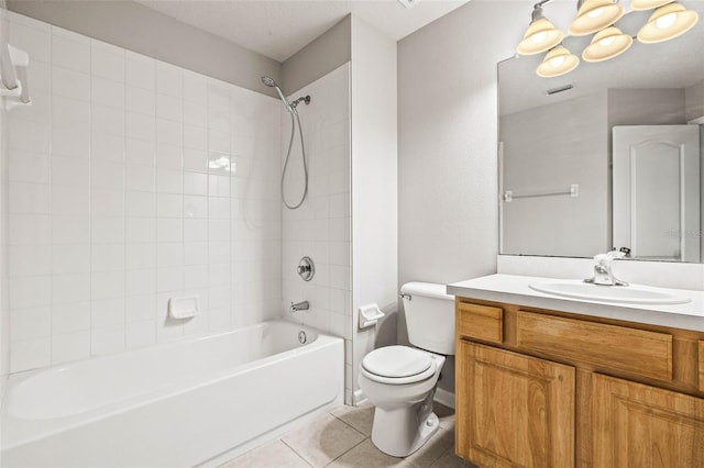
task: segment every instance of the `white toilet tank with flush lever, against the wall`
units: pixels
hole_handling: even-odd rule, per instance
[[[454,296],[444,285],[407,282],[400,288],[408,341],[419,348],[454,354]]]

